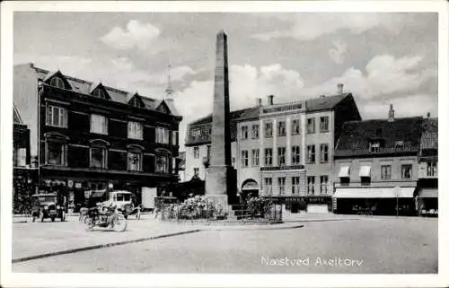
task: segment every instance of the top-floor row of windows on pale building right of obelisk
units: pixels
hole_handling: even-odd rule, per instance
[[[301,133],[301,122],[300,119],[292,120],[292,135],[297,135]],[[241,127],[241,139],[249,139],[249,127]],[[251,139],[259,139],[259,124],[254,124],[251,127]],[[315,133],[315,118],[307,118],[306,125],[307,134]],[[320,132],[329,132],[329,116],[320,117]],[[265,121],[265,138],[270,138],[273,136],[273,122]],[[286,136],[286,121],[277,121],[277,136]]]

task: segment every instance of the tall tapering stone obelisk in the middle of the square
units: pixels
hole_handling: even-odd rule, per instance
[[[216,70],[212,114],[212,150],[210,166],[206,170],[206,196],[224,207],[232,194],[233,167],[231,165],[231,128],[229,111],[229,79],[227,64],[227,35],[216,35]]]

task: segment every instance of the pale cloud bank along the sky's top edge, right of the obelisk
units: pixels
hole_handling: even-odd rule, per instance
[[[360,34],[375,27],[398,32],[404,25],[401,22],[403,18],[401,13],[295,13],[292,17],[280,18],[291,22],[290,29],[266,31],[255,34],[252,38],[264,41],[274,38],[312,40],[342,30]]]

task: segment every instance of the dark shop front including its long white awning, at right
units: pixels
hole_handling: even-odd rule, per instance
[[[416,215],[414,187],[336,188],[336,214]]]

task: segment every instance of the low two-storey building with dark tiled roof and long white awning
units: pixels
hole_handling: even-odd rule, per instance
[[[334,209],[352,214],[413,214],[420,117],[349,121],[335,149]]]

